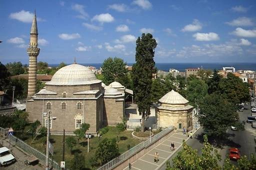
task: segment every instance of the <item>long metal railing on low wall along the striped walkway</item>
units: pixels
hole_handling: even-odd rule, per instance
[[[151,137],[151,142],[149,139],[140,142],[139,144],[133,146],[131,149],[125,151],[124,153],[120,154],[119,156],[115,157],[114,159],[110,160],[109,162],[105,163],[101,167],[99,167],[97,170],[107,170],[115,167],[116,165],[120,164],[124,160],[128,159],[130,156],[134,155],[141,149],[151,145],[154,143],[156,140],[160,139],[162,136],[166,135],[170,131],[172,131],[174,128],[173,126],[170,126],[168,128],[163,129],[159,133],[155,134],[154,136]]]

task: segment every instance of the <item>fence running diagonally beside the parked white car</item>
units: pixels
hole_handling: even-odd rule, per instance
[[[0,132],[4,132],[4,128],[0,127]],[[41,153],[40,151],[36,150],[35,148],[29,146],[26,144],[23,140],[19,139],[18,137],[14,135],[10,135],[8,137],[8,140],[10,140],[10,143],[13,145],[18,146],[22,150],[26,151],[29,154],[34,155],[37,157],[41,162],[45,163],[46,155],[44,153]],[[61,170],[60,165],[51,158],[49,158],[49,164],[52,164],[53,169]]]

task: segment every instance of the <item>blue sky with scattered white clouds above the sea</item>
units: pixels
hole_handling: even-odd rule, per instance
[[[134,62],[149,32],[155,62],[256,62],[256,0],[0,0],[2,63],[28,63],[34,10],[37,61]]]

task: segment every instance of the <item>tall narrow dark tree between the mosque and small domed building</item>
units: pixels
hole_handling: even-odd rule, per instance
[[[133,91],[141,115],[141,131],[144,131],[144,119],[150,114],[152,74],[154,67],[154,49],[156,40],[150,33],[142,33],[136,40],[135,63],[132,66]]]

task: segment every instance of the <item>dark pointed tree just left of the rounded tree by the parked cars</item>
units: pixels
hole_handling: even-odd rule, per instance
[[[216,69],[214,69],[213,76],[206,81],[208,84],[208,94],[219,91],[219,82],[221,78],[221,75],[219,75]]]

